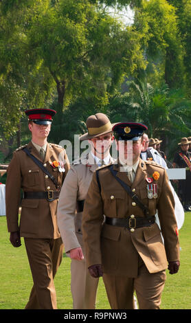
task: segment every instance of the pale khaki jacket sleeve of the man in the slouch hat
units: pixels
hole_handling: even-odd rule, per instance
[[[58,228],[65,245],[65,252],[80,247],[74,224],[77,196],[78,174],[74,168],[71,168],[61,188],[57,210]]]

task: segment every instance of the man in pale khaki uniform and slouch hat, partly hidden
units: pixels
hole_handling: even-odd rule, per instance
[[[91,152],[74,161],[69,170],[58,202],[58,227],[65,251],[71,258],[71,293],[74,309],[95,309],[98,278],[92,278],[86,267],[82,243],[82,210],[93,172],[104,161],[113,159],[109,148],[113,141],[112,125],[103,113],[87,118],[88,133],[80,141],[89,140]]]

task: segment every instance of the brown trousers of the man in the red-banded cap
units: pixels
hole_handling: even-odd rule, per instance
[[[57,309],[54,276],[63,258],[62,239],[24,241],[34,282],[25,309]]]

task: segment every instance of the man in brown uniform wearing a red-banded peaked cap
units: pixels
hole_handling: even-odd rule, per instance
[[[57,309],[53,279],[63,257],[63,242],[56,209],[69,161],[61,146],[47,143],[56,111],[32,109],[25,113],[32,141],[16,149],[8,167],[5,194],[8,231],[14,247],[19,247],[20,237],[24,237],[32,271],[34,286],[25,309]]]

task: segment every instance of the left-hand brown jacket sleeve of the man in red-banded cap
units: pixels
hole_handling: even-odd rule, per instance
[[[21,170],[17,153],[13,154],[5,184],[6,219],[8,232],[19,231],[19,203],[21,198]]]

